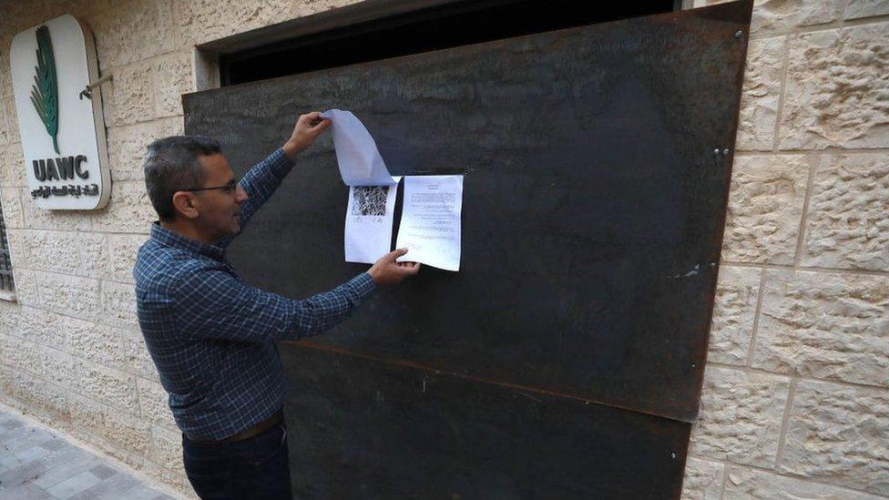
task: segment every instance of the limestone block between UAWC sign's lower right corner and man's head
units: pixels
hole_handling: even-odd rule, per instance
[[[157,219],[145,183],[125,181],[114,184],[107,207],[97,212],[93,224],[99,231],[148,234],[151,221]]]

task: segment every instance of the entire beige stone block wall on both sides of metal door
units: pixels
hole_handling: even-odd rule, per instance
[[[0,4],[0,402],[190,495],[135,318],[155,219],[141,152],[182,131],[194,45],[353,0]],[[696,0],[697,5],[709,4]],[[50,212],[26,191],[15,33],[69,13],[96,36],[114,189]],[[757,1],[687,498],[889,497],[889,2]]]

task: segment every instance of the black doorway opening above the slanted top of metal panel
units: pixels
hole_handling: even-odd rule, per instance
[[[397,4],[369,0],[305,17],[279,27],[279,39],[261,46],[235,43],[240,47],[227,50],[223,40],[205,48],[220,55],[220,84],[226,87],[680,9],[678,0],[628,0],[608,8],[569,0],[421,0],[393,8]],[[349,17],[363,20],[350,23]],[[292,35],[281,36],[284,29]]]

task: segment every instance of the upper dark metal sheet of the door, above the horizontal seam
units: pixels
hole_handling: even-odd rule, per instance
[[[750,12],[716,5],[203,92],[184,98],[186,130],[220,138],[243,169],[297,112],[340,107],[393,173],[465,173],[461,272],[424,269],[317,342],[690,422]],[[366,269],[342,262],[331,146],[303,156],[232,245],[249,281],[302,297]]]

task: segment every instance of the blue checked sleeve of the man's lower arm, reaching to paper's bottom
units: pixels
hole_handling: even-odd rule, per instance
[[[332,291],[292,300],[246,285],[222,268],[204,268],[185,274],[175,287],[176,321],[180,331],[202,339],[298,339],[344,320],[374,288],[363,272]]]

